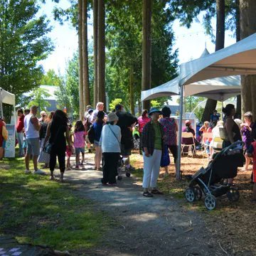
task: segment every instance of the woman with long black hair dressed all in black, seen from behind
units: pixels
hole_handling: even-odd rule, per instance
[[[53,116],[53,121],[47,127],[45,144],[49,139],[52,144],[50,151],[50,179],[54,180],[53,171],[56,165],[56,156],[60,166],[60,182],[63,182],[65,171],[65,150],[66,141],[68,146],[71,147],[69,129],[68,129],[68,116],[62,110],[56,110]]]

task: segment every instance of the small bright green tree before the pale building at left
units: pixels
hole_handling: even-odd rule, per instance
[[[28,108],[33,105],[38,106],[39,115],[42,110],[46,110],[47,107],[50,107],[50,103],[47,100],[45,100],[49,96],[50,94],[47,92],[46,89],[39,87],[35,90],[32,90],[27,97],[27,100],[29,100],[27,104]]]

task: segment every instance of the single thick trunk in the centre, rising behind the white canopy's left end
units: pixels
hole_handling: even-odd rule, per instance
[[[151,88],[151,0],[142,0],[142,90]],[[149,110],[150,101],[143,102]]]

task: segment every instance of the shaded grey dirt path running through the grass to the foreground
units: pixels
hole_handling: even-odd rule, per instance
[[[136,178],[124,177],[117,187],[109,187],[101,186],[101,177],[102,172],[92,171],[91,164],[65,173],[78,193],[118,223],[101,247],[86,255],[229,255],[206,230],[201,215],[185,210],[176,199],[144,198]]]

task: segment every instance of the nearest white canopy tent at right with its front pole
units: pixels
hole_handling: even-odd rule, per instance
[[[220,78],[229,75],[256,74],[256,33],[222,50],[197,60],[180,65],[178,76],[179,95],[181,96],[180,114],[183,116],[184,86],[193,82]],[[182,118],[179,119],[181,128]],[[181,142],[181,129],[178,129],[178,138]],[[180,179],[181,143],[178,143],[178,163],[176,178]]]

